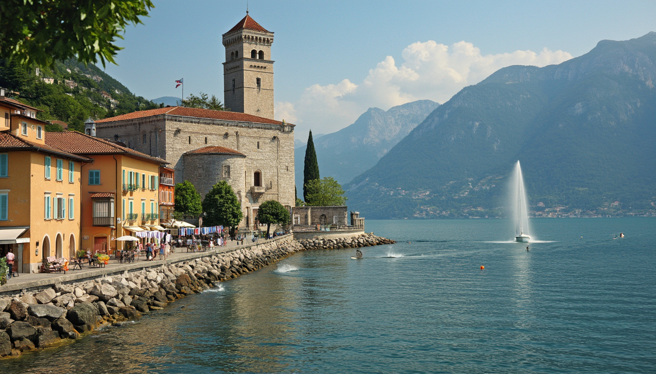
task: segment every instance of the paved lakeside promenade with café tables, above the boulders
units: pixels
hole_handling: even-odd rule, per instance
[[[244,240],[244,245],[237,245],[237,241],[228,240],[228,243],[225,247],[215,247],[211,251],[205,252],[187,252],[185,247],[176,248],[174,253],[169,254],[167,259],[159,260],[159,256],[154,261],[146,261],[146,257],[141,256],[138,259],[135,259],[133,263],[119,263],[119,260],[110,259],[110,263],[103,268],[91,267],[84,265],[82,269],[72,270],[72,267],[69,267],[69,271],[64,274],[63,272],[54,272],[54,273],[21,273],[17,277],[12,277],[7,280],[7,284],[0,286],[0,296],[8,295],[12,293],[20,293],[22,290],[40,290],[45,288],[51,288],[52,285],[56,283],[72,283],[72,282],[83,282],[84,280],[94,279],[102,276],[110,276],[115,274],[123,274],[126,271],[140,271],[142,269],[148,269],[152,267],[161,267],[161,265],[168,265],[171,263],[178,263],[181,261],[190,261],[192,259],[197,259],[200,257],[207,257],[214,255],[215,253],[224,253],[232,252],[239,248],[249,248],[258,244],[264,244],[269,242],[276,242],[277,240],[283,240],[289,238],[293,234],[287,234],[283,236],[278,236],[277,238],[264,240],[257,240],[255,243],[248,242]]]

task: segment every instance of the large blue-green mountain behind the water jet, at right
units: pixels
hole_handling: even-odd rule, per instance
[[[534,215],[654,214],[655,82],[654,32],[505,67],[344,186],[348,204],[369,218],[501,217],[520,160]]]

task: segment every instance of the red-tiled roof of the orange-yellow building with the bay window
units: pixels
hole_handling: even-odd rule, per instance
[[[77,131],[46,132],[45,142],[53,147],[58,147],[70,153],[77,153],[79,155],[112,155],[116,153],[128,153],[142,159],[159,162],[160,164],[168,164],[165,160],[146,155],[146,153],[137,152],[134,151],[134,149],[129,149],[127,147],[121,147],[121,145],[112,143],[111,141],[94,138],[93,136],[82,134]]]

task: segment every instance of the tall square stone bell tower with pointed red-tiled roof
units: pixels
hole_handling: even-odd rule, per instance
[[[274,119],[274,33],[246,16],[223,34],[224,105],[228,110]]]

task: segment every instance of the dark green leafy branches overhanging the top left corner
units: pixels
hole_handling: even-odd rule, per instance
[[[3,0],[0,58],[50,66],[76,56],[84,64],[115,64],[116,39],[152,8],[150,0]]]

